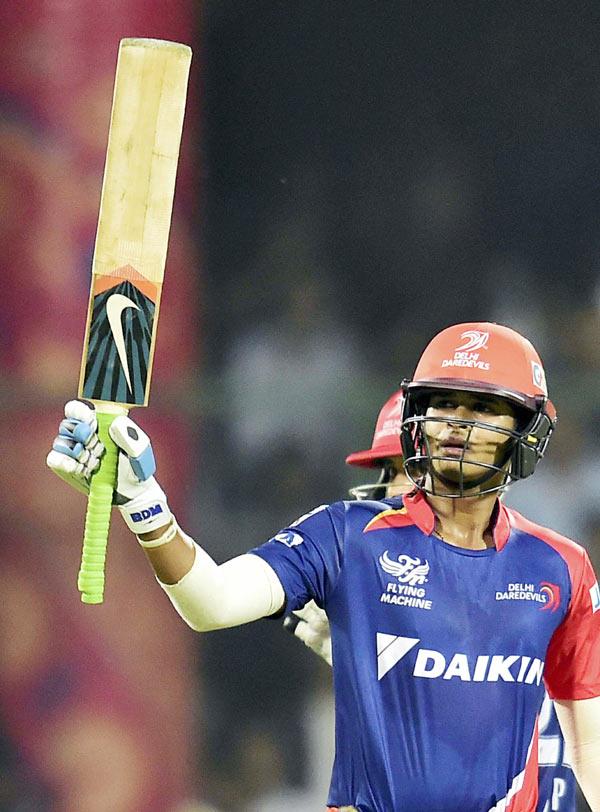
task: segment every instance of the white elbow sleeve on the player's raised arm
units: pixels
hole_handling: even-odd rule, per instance
[[[262,558],[245,554],[218,565],[192,543],[196,557],[190,571],[176,584],[158,582],[192,629],[208,632],[239,626],[283,607],[281,581]]]

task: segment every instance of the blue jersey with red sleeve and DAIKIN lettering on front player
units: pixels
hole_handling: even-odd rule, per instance
[[[317,508],[252,552],[331,625],[331,806],[535,812],[538,716],[600,695],[600,594],[574,542],[497,502],[495,546],[435,535],[421,493]],[[544,681],[542,680],[544,678]]]

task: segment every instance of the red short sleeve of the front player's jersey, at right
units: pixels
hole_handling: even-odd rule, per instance
[[[600,696],[600,590],[583,548],[567,564],[571,601],[550,640],[544,682],[552,699],[590,699]]]

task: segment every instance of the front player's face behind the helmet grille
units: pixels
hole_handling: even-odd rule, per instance
[[[441,391],[431,396],[425,420],[431,468],[436,480],[451,489],[453,483],[463,490],[478,487],[478,481],[490,468],[505,468],[507,434],[517,421],[511,404],[500,397],[474,392]],[[486,426],[479,425],[485,423]],[[436,459],[437,458],[437,459]],[[504,476],[499,473],[498,478]],[[489,487],[489,480],[486,487]]]

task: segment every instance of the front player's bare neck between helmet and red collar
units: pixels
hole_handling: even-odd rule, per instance
[[[448,544],[467,550],[494,546],[490,520],[498,495],[485,494],[476,499],[448,499],[427,495],[435,513],[434,533]]]

